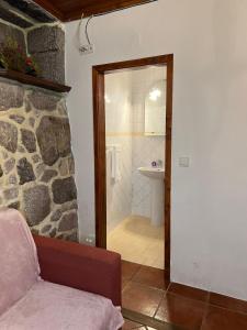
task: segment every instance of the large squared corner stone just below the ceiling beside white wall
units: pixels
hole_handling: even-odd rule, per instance
[[[27,33],[29,53],[64,51],[65,32],[59,26],[41,26]]]

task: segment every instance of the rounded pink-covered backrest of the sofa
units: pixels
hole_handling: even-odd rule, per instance
[[[22,215],[0,209],[0,315],[38,280],[36,248]]]

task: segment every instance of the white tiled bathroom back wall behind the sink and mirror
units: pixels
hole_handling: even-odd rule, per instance
[[[132,73],[133,131],[144,132],[145,96],[156,81],[166,79],[166,67],[149,67]],[[165,113],[164,113],[165,118]],[[153,161],[165,162],[165,136],[133,136],[132,150],[132,215],[150,217],[149,179],[137,170]]]

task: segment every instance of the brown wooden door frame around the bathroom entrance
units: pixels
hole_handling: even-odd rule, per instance
[[[106,165],[104,75],[109,72],[138,68],[148,65],[167,67],[166,84],[166,146],[165,146],[165,278],[170,280],[170,191],[171,191],[171,128],[173,55],[96,65],[92,67],[94,179],[96,179],[96,245],[106,249]]]

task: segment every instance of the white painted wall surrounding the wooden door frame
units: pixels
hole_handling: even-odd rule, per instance
[[[81,229],[94,232],[91,66],[175,54],[171,278],[247,299],[247,1],[159,0],[66,24]],[[189,168],[178,157],[189,155]]]

